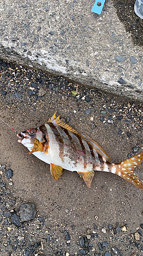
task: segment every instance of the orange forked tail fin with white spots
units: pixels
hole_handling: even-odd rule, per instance
[[[133,156],[124,162],[115,164],[113,166],[116,167],[116,174],[122,177],[123,179],[129,181],[134,186],[143,189],[143,184],[139,180],[139,178],[134,174],[133,169],[139,165],[143,158],[143,152],[140,154]]]

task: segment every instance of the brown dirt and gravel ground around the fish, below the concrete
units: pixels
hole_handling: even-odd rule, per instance
[[[17,132],[57,111],[120,162],[142,151],[143,108],[137,102],[81,87],[64,77],[0,60],[0,117]],[[17,142],[0,120],[1,255],[142,255],[142,190],[96,172],[91,189],[64,170],[55,182],[49,165]],[[141,180],[142,164],[136,168]]]

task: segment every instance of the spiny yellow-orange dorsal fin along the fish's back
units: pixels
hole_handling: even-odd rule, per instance
[[[54,115],[51,118],[49,118],[48,123],[52,122],[52,123],[58,124],[59,126],[67,129],[68,131],[70,131],[74,134],[78,134],[85,141],[90,143],[100,156],[104,157],[109,163],[112,162],[110,157],[107,155],[107,153],[103,150],[103,148],[96,141],[94,141],[93,139],[88,139],[87,137],[85,137],[85,135],[78,133],[75,129],[70,127],[67,123],[64,123],[62,120],[60,120],[60,116],[56,117],[55,114],[56,114],[56,112],[54,113]]]

